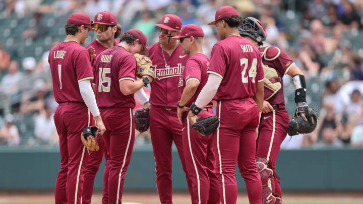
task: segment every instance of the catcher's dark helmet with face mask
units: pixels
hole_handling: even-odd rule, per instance
[[[265,28],[261,22],[254,17],[245,17],[242,24],[238,27],[241,36],[247,35],[255,39],[260,46],[267,38]]]

